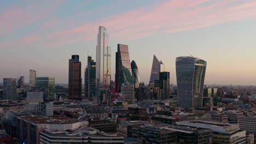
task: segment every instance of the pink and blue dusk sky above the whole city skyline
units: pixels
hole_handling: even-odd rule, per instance
[[[153,55],[176,83],[175,59],[207,61],[206,84],[256,84],[256,1],[0,1],[0,82],[53,76],[68,83],[68,59],[77,54],[82,78],[88,55],[96,59],[98,26],[109,33],[112,75],[117,44],[129,45],[141,81],[148,83]]]

